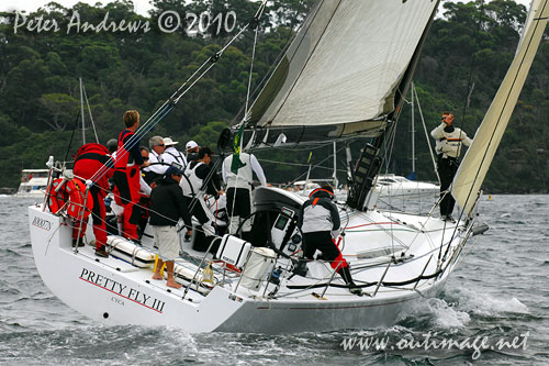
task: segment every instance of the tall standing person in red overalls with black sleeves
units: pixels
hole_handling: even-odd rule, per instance
[[[148,166],[139,152],[139,138],[135,131],[139,127],[139,113],[126,111],[123,117],[126,129],[120,133],[116,160],[114,163],[114,184],[119,189],[124,206],[123,236],[137,242],[137,223],[141,218],[139,167]]]

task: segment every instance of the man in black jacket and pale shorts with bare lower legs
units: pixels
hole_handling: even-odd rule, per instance
[[[160,269],[164,262],[168,270],[168,287],[181,288],[173,278],[173,259],[179,256],[179,237],[176,224],[183,219],[189,232],[191,232],[191,215],[184,203],[183,192],[179,187],[183,171],[176,166],[166,170],[164,179],[150,193],[150,225],[158,245],[158,263],[153,279],[163,279]]]

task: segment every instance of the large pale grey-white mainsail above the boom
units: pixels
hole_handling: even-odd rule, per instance
[[[245,117],[247,127],[376,136],[438,2],[318,1]]]

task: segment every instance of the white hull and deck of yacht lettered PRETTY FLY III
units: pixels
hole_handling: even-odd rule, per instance
[[[291,196],[277,189],[269,190]],[[150,279],[150,267],[138,268],[113,255],[109,258],[98,258],[93,254],[93,247],[89,245],[75,253],[71,247],[71,229],[64,224],[66,219],[43,211],[42,207],[31,207],[29,215],[33,253],[40,275],[49,289],[69,307],[104,324],[170,325],[188,332],[287,333],[393,324],[411,301],[422,296],[436,296],[441,290],[459,258],[459,245],[464,244],[468,237],[463,231],[461,236],[458,235],[451,241],[448,260],[445,263],[448,268],[438,277],[422,279],[418,284],[381,286],[373,296],[377,282],[383,277],[390,260],[383,255],[359,258],[363,256],[360,253],[363,249],[371,252],[381,243],[386,246],[386,239],[383,240],[385,235],[393,235],[395,241],[412,239],[410,242],[414,242],[413,237],[425,235],[422,243],[417,242],[417,249],[413,251],[414,257],[391,265],[383,280],[396,282],[416,278],[424,268],[424,275],[434,274],[440,249],[434,243],[440,243],[442,240],[444,222],[400,215],[391,221],[391,226],[394,228],[388,231],[386,228],[379,229],[388,225],[386,213],[355,212],[348,218],[343,253],[351,265],[355,280],[370,284],[363,288],[370,296],[351,295],[341,286],[343,281],[338,276],[334,277],[332,284],[339,284],[339,287],[314,287],[317,284],[327,284],[332,278],[329,266],[315,260],[309,264],[307,278],[294,276],[290,279],[290,274],[283,276],[280,290],[272,298],[267,295],[274,289],[274,285],[268,284],[265,289],[265,281],[258,291],[251,291],[243,286],[237,287],[238,277],[233,277],[211,291],[201,287],[202,293],[195,291],[195,286],[192,286],[182,299],[186,287],[168,290],[166,281]],[[384,218],[384,221],[379,221],[381,218]],[[408,223],[404,224],[402,219],[407,219]],[[378,223],[372,224],[368,220],[377,220]],[[422,233],[422,230],[412,230],[412,220],[425,221],[424,231],[428,234]],[[354,226],[371,230],[357,232]],[[453,228],[446,230],[447,239],[452,231]],[[90,235],[91,231],[88,231],[88,241],[91,240]],[[442,247],[441,253],[444,252],[446,246]],[[395,252],[399,256],[397,253]],[[178,263],[191,274],[197,268],[183,259]],[[284,267],[288,260],[279,258],[277,265]],[[216,273],[215,277],[219,280],[221,274]],[[295,289],[292,286],[313,288]],[[320,299],[325,289],[324,299]]]

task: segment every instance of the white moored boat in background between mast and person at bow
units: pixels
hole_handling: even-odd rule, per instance
[[[383,174],[378,176],[376,191],[381,198],[394,197],[437,197],[440,193],[440,186],[426,182],[410,180],[394,174]],[[433,201],[435,202],[435,200]]]

